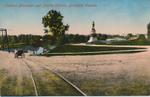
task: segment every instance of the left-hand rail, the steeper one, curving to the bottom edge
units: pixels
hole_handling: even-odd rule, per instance
[[[36,87],[36,82],[35,82],[34,77],[33,77],[33,72],[30,69],[29,64],[26,61],[24,61],[24,60],[22,60],[22,61],[25,63],[27,69],[30,71],[30,77],[31,77],[31,80],[32,80],[32,83],[33,83],[34,92],[35,92],[35,95],[38,96],[38,90],[37,90],[37,87]]]

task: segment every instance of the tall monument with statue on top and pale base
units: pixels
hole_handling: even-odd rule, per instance
[[[94,23],[94,21],[93,21],[93,23],[92,23],[91,32],[92,32],[92,33],[91,33],[90,38],[89,38],[89,40],[88,40],[87,43],[95,43],[95,42],[98,41],[98,39],[97,39],[97,34],[96,34],[96,30],[95,30],[95,23]]]

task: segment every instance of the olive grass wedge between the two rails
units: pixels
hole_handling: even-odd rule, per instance
[[[80,96],[81,94],[71,85],[50,71],[34,75],[38,93],[41,96]]]

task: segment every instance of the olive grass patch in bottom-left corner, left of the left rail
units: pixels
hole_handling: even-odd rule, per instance
[[[34,96],[34,87],[30,78],[23,77],[18,84],[16,76],[8,76],[2,82],[1,92],[3,96]]]

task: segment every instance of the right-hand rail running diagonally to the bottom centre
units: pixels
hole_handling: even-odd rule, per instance
[[[30,62],[32,62],[32,63],[35,63],[35,61],[33,61],[33,60],[31,60],[31,59],[26,59],[26,60],[28,60],[28,61],[30,61]],[[36,61],[36,64],[38,64],[38,65],[40,66],[39,62],[37,62],[37,61]],[[43,63],[41,63],[41,64],[43,64]],[[55,75],[57,75],[59,78],[61,78],[61,79],[64,80],[66,83],[68,83],[69,85],[71,85],[71,86],[72,86],[75,90],[77,90],[81,95],[87,96],[87,95],[86,95],[82,90],[80,90],[76,85],[74,85],[73,83],[71,83],[68,79],[66,79],[64,76],[62,76],[62,75],[59,74],[58,72],[49,69],[49,67],[48,67],[47,65],[45,65],[45,66],[42,65],[42,68],[43,68],[43,69],[46,69],[46,70],[49,70],[49,71],[51,71],[52,73],[54,73]]]

